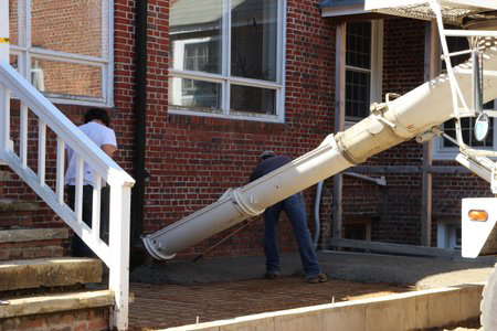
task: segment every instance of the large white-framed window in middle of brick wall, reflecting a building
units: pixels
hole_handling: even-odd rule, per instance
[[[283,121],[284,0],[178,0],[169,110]]]

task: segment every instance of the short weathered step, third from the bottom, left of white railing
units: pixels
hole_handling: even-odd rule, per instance
[[[0,231],[0,261],[62,257],[67,238],[67,228]]]

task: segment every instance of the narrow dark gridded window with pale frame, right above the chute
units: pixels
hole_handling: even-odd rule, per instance
[[[381,102],[382,21],[347,23],[346,120],[358,121]]]

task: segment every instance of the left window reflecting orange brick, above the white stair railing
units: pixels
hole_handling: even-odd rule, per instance
[[[9,0],[11,65],[54,103],[113,106],[113,6]]]

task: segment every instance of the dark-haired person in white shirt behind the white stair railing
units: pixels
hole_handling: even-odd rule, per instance
[[[95,142],[110,158],[117,150],[116,134],[109,128],[110,118],[105,109],[92,108],[84,116],[84,125],[80,126],[89,139]],[[74,209],[75,184],[76,184],[76,154],[73,149],[66,146],[66,157],[68,161],[64,183],[67,185],[67,204]],[[93,186],[95,177],[93,169],[84,162],[83,169],[83,222],[92,226]],[[101,191],[101,233],[105,233],[108,224],[108,189]],[[77,236],[73,236],[71,245],[73,256],[95,256],[86,244]]]

